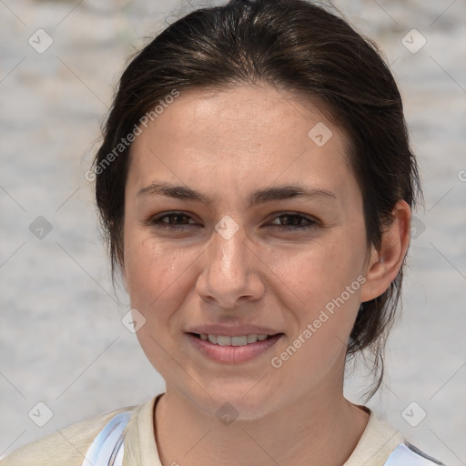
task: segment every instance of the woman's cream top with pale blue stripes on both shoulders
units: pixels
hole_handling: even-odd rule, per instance
[[[0,461],[0,466],[162,466],[154,433],[154,407],[162,395],[136,407],[84,420],[29,443]],[[370,412],[368,425],[343,466],[441,464],[415,448],[411,450],[399,431],[365,409]]]

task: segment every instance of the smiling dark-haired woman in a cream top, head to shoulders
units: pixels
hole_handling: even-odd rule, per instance
[[[380,385],[420,197],[369,40],[302,0],[197,10],[127,66],[88,177],[167,390],[3,466],[440,464],[343,396],[363,350]]]

